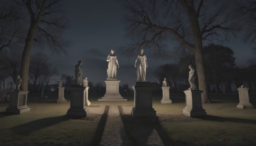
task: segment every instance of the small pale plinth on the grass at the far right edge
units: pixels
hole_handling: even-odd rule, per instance
[[[239,92],[239,103],[236,106],[239,109],[253,109],[252,104],[250,103],[248,90],[249,88],[240,88],[237,89]]]

